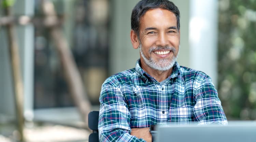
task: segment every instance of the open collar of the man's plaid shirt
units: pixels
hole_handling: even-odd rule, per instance
[[[152,80],[152,81],[156,81],[155,78],[153,78],[151,75],[149,75],[148,73],[146,73],[142,68],[141,68],[141,61],[140,59],[137,60],[136,62],[136,74],[138,76],[141,76],[141,78],[143,79],[144,82],[147,82],[148,79]],[[179,76],[181,74],[181,68],[180,68],[180,65],[175,62],[174,65],[173,65],[173,70],[172,70],[172,73],[171,75],[168,77],[169,79],[171,78],[175,78],[177,76]],[[168,79],[168,80],[169,80]]]

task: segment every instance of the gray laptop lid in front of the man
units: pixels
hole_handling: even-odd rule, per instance
[[[158,125],[154,142],[256,142],[256,121],[228,125]]]

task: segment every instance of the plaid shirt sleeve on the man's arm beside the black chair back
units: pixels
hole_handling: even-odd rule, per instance
[[[100,142],[145,142],[143,139],[130,135],[130,112],[117,84],[113,82],[103,84],[99,100]]]

